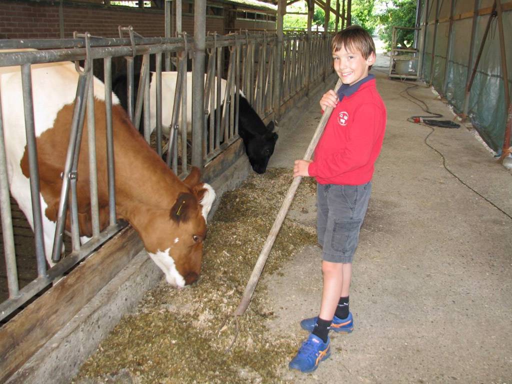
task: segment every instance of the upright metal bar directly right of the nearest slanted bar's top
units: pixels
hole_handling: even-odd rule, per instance
[[[93,238],[100,232],[98,203],[98,172],[96,168],[96,122],[94,114],[94,77],[89,71],[89,89],[87,95],[87,140],[89,146],[89,190],[91,195],[91,223]]]

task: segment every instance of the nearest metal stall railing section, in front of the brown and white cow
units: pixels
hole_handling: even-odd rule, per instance
[[[78,37],[78,36],[77,36]],[[0,53],[0,67],[14,67],[19,68],[24,96],[24,110],[25,110],[25,127],[27,136],[28,158],[30,166],[30,188],[32,196],[32,217],[33,229],[35,233],[35,249],[37,260],[37,278],[24,287],[19,287],[16,260],[15,260],[15,246],[14,236],[12,231],[12,218],[11,218],[11,204],[7,188],[7,166],[6,166],[6,143],[3,142],[4,136],[4,121],[5,114],[9,111],[0,111],[0,133],[2,134],[2,142],[0,142],[0,177],[2,178],[2,194],[0,195],[0,209],[2,211],[2,228],[4,237],[4,252],[7,265],[7,281],[9,286],[9,298],[0,304],[0,320],[5,319],[16,311],[20,306],[23,306],[32,297],[37,295],[42,290],[61,278],[62,274],[73,268],[74,265],[86,258],[101,244],[109,240],[116,232],[118,232],[123,224],[117,222],[115,214],[115,190],[114,190],[114,164],[113,164],[113,132],[112,132],[112,58],[131,56],[134,54],[144,55],[143,69],[141,79],[142,82],[139,86],[139,97],[137,98],[136,107],[134,110],[134,119],[137,120],[141,114],[141,109],[144,108],[145,120],[145,137],[148,139],[148,130],[150,126],[149,113],[150,102],[148,99],[150,83],[148,62],[149,55],[155,55],[156,60],[161,62],[161,55],[165,52],[178,53],[186,52],[186,44],[182,38],[177,39],[93,39],[89,35],[84,35],[83,38],[67,39],[67,40],[4,40],[0,41],[0,49],[17,48],[37,48],[37,51],[20,51],[20,52],[3,52]],[[59,49],[46,49],[48,47],[59,46]],[[117,46],[115,46],[117,45]],[[76,47],[80,48],[76,48]],[[53,48],[52,47],[52,48]],[[84,47],[84,48],[82,48]],[[39,182],[38,182],[38,164],[37,164],[37,148],[35,140],[35,121],[33,114],[33,101],[32,101],[32,83],[31,83],[31,66],[40,63],[59,62],[63,60],[71,60],[77,62],[78,60],[84,61],[84,68],[76,66],[78,72],[78,83],[75,98],[74,115],[70,129],[70,143],[66,156],[66,163],[63,169],[63,183],[60,193],[60,202],[57,215],[57,228],[55,231],[54,243],[52,254],[52,261],[49,261],[48,268],[45,260],[45,246],[43,242],[44,234],[42,227],[42,212],[39,200]],[[97,175],[95,173],[95,166],[91,166],[91,216],[92,216],[92,238],[84,244],[80,244],[77,218],[77,193],[76,193],[76,170],[78,163],[79,147],[81,140],[81,133],[83,121],[86,119],[89,129],[89,159],[90,164],[96,163],[95,153],[95,135],[94,135],[94,102],[93,102],[93,75],[92,67],[93,60],[102,60],[104,67],[104,83],[105,83],[105,104],[106,108],[106,121],[107,121],[107,148],[108,148],[108,178],[109,178],[109,209],[110,221],[106,228],[100,228],[98,201],[97,201]],[[128,61],[130,68],[130,62]],[[186,70],[186,67],[181,67]],[[161,70],[157,69],[157,77],[161,74]],[[133,86],[133,81],[132,81]],[[157,94],[161,90],[157,90]],[[180,92],[176,93],[177,98],[181,95]],[[4,95],[5,97],[5,95]],[[142,103],[141,97],[145,99]],[[186,101],[186,98],[183,98]],[[157,104],[161,102],[161,95],[157,95]],[[87,108],[86,108],[87,104]],[[144,105],[143,105],[144,104]],[[175,115],[179,109],[175,109]],[[186,111],[185,108],[183,109]],[[162,111],[159,105],[159,111]],[[177,117],[173,116],[173,122],[177,121]],[[186,125],[184,125],[186,129]],[[161,126],[157,126],[157,131],[161,131]],[[8,144],[8,143],[7,143]],[[177,162],[172,164],[176,167]],[[182,169],[186,169],[186,157],[181,163]],[[71,216],[71,238],[72,249],[65,249],[67,253],[66,258],[60,260],[61,251],[63,249],[63,233],[66,224],[66,217],[68,209]],[[102,230],[100,230],[102,229]],[[48,257],[48,250],[46,250]],[[55,263],[55,264],[54,264]]]

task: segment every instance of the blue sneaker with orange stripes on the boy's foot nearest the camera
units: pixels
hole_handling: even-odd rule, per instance
[[[311,333],[288,367],[305,373],[313,372],[320,361],[324,361],[331,355],[329,343],[329,337],[327,337],[327,343],[324,343],[324,340]]]

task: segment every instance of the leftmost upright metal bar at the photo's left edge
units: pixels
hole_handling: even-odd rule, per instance
[[[7,175],[7,158],[5,155],[4,119],[2,113],[2,97],[0,94],[0,214],[2,214],[2,236],[4,239],[4,257],[7,271],[9,297],[19,294],[16,253],[14,249],[14,233],[12,229],[11,201],[9,195],[9,179]]]

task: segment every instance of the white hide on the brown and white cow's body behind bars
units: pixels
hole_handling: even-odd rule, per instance
[[[3,50],[2,52],[9,52]],[[20,51],[20,50],[16,50]],[[33,51],[33,50],[23,50]],[[72,62],[56,62],[31,66],[34,125],[36,138],[53,127],[57,113],[63,106],[73,103],[76,95],[78,73]],[[30,180],[22,173],[20,161],[25,153],[27,137],[23,108],[22,77],[20,67],[0,67],[0,89],[6,142],[7,173],[11,194],[34,229]],[[104,84],[94,78],[94,96],[105,98]],[[113,104],[119,99],[112,94]],[[42,212],[47,208],[45,199],[39,194]],[[46,259],[50,265],[56,223],[42,215]],[[83,240],[83,239],[82,239]]]

